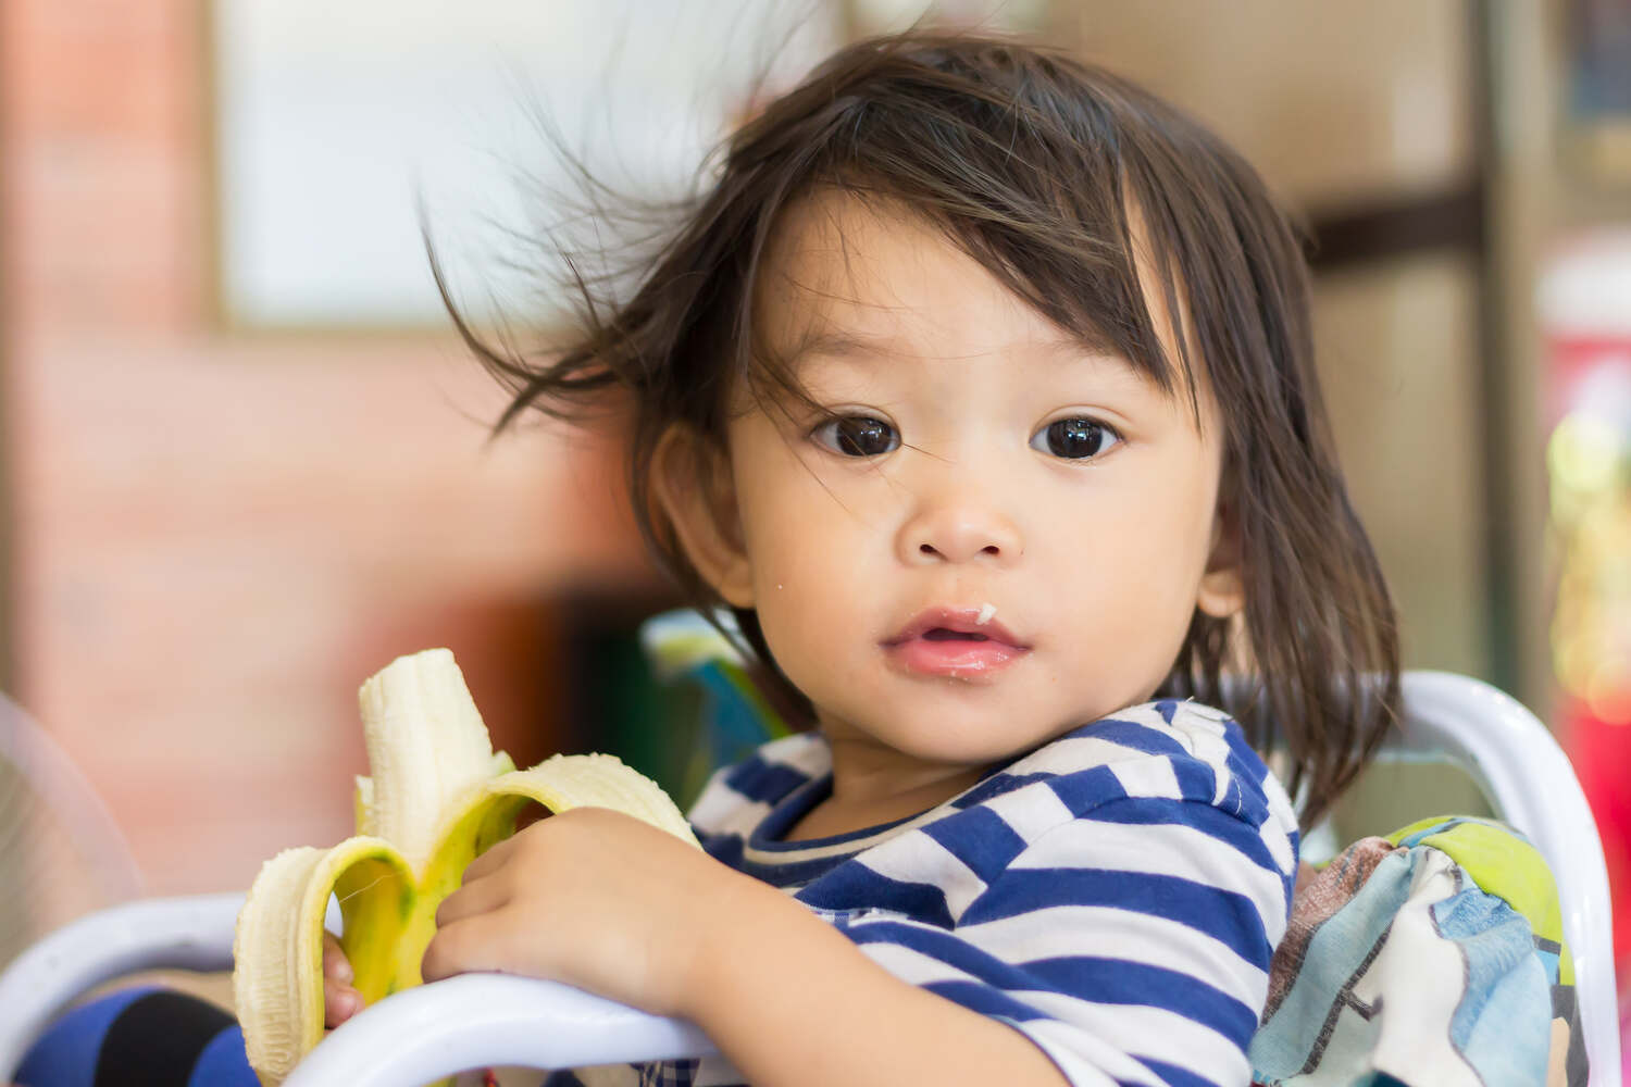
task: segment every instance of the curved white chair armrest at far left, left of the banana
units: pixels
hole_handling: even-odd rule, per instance
[[[69,1004],[140,970],[232,970],[232,932],[243,891],[145,898],[72,921],[0,975],[0,1082]]]

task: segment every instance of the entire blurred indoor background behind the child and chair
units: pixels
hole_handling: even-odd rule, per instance
[[[618,750],[678,782],[675,696],[634,639],[674,600],[615,451],[486,443],[504,398],[450,332],[418,215],[465,305],[546,326],[561,298],[525,240],[582,223],[545,132],[683,192],[755,72],[773,93],[925,11],[1134,77],[1305,217],[1406,662],[1548,720],[1631,904],[1623,0],[7,0],[0,689],[73,802],[0,841],[24,891],[0,958],[108,898],[243,888],[344,838],[354,691],[403,652],[453,649],[522,764]],[[1339,833],[1398,826],[1401,797],[1479,803],[1378,771]],[[73,869],[85,841],[106,852]],[[1616,937],[1631,952],[1624,906]]]

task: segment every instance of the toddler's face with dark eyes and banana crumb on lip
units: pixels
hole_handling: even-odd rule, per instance
[[[1148,699],[1194,610],[1238,606],[1204,383],[1197,429],[1182,383],[1090,352],[926,223],[835,196],[788,213],[755,313],[776,350],[807,344],[798,378],[845,420],[744,394],[724,536],[677,520],[835,743],[1011,758]]]

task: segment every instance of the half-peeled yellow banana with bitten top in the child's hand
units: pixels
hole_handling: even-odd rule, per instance
[[[400,657],[359,693],[370,777],[357,777],[357,836],[285,849],[261,867],[238,914],[233,997],[250,1066],[281,1084],[323,1038],[323,914],[369,1004],[421,983],[435,909],[468,865],[515,830],[532,802],[550,812],[617,808],[696,844],[648,777],[610,755],[556,755],[527,771],[494,753],[445,649]]]

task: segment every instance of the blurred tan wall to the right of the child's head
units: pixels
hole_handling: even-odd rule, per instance
[[[1316,227],[1412,200],[1478,200],[1481,248],[1406,246],[1316,274],[1318,365],[1349,492],[1399,610],[1404,667],[1491,680],[1543,717],[1532,290],[1554,7],[1054,8],[1083,55],[1210,125]],[[1484,127],[1491,116],[1499,132]],[[1398,826],[1401,813],[1483,807],[1460,772],[1381,766],[1347,799],[1337,831],[1352,839]]]

